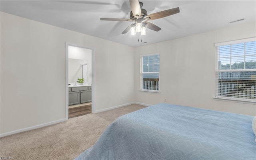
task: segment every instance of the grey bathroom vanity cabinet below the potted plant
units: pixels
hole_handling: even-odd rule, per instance
[[[92,86],[68,88],[68,105],[92,102]]]

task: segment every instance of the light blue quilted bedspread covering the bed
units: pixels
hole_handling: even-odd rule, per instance
[[[252,119],[156,104],[117,118],[75,160],[256,160]]]

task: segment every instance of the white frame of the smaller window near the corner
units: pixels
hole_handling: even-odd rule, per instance
[[[146,56],[155,56],[155,55],[159,55],[159,72],[143,72],[143,57]],[[159,53],[155,53],[155,54],[142,54],[139,56],[140,57],[140,90],[141,92],[153,92],[153,93],[160,93],[160,54]],[[155,63],[154,63],[155,64]],[[143,74],[154,74],[157,73],[158,74],[158,90],[146,90],[143,89]]]

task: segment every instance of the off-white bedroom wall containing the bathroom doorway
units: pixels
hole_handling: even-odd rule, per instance
[[[1,12],[1,135],[66,119],[66,42],[94,48],[96,111],[134,102],[134,48]]]

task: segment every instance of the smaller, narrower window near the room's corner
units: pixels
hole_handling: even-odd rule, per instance
[[[159,54],[140,56],[140,90],[159,91]]]

